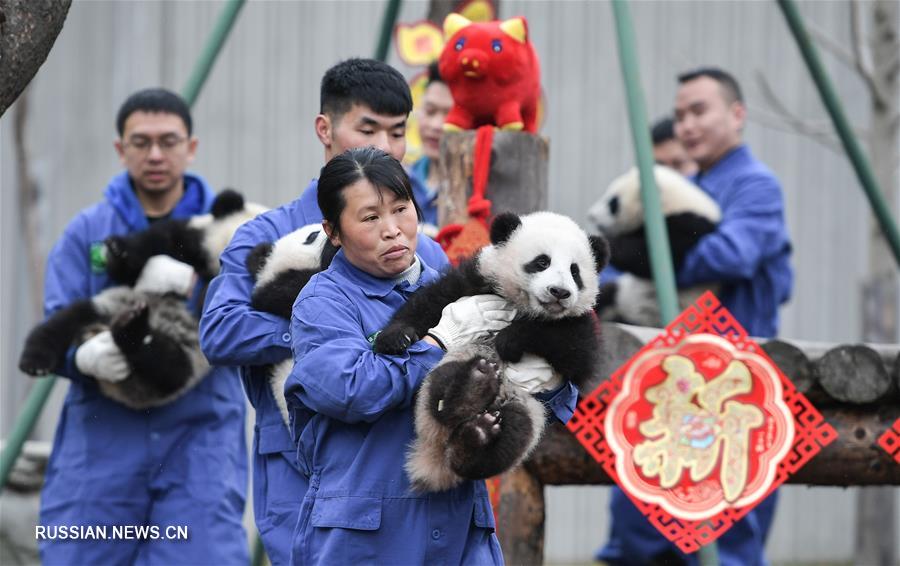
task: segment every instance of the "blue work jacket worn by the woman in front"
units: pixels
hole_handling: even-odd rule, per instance
[[[417,283],[395,286],[338,252],[294,304],[285,397],[310,478],[294,564],[502,563],[483,481],[417,494],[403,468],[414,393],[443,351],[424,341],[398,356],[372,351],[376,332],[437,278],[423,262]]]

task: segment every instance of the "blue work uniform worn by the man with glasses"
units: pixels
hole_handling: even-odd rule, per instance
[[[171,217],[208,212],[214,194],[206,182],[185,174],[184,183],[185,194]],[[102,261],[104,240],[148,226],[127,173],[114,177],[104,196],[102,202],[75,216],[50,252],[44,288],[48,316],[110,287]],[[152,516],[148,509],[162,509],[165,494],[171,492],[187,509],[177,522],[188,526],[192,540],[205,545],[207,536],[234,539],[212,554],[206,549],[208,559],[246,560],[247,545],[240,538],[245,536],[240,517],[247,483],[245,402],[240,385],[228,379],[227,372],[213,368],[196,387],[168,405],[132,410],[103,396],[93,378],[78,372],[74,351],[70,349],[57,370],[71,385],[41,498],[42,523],[83,524],[91,519],[120,524],[126,507],[146,521]],[[216,521],[209,520],[210,513],[216,514]],[[220,513],[233,513],[233,517]],[[212,528],[217,523],[222,530]],[[115,548],[109,542],[96,544],[106,547],[107,557],[115,561]],[[201,556],[192,554],[193,545],[179,548],[186,560]],[[93,560],[68,550],[64,556],[70,561]],[[57,558],[44,555],[45,561]]]

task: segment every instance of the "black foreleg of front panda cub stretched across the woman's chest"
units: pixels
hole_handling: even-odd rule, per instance
[[[425,337],[441,320],[450,303],[485,293],[494,293],[490,283],[478,272],[474,260],[466,260],[431,285],[414,293],[394,314],[375,338],[375,352],[399,354]]]

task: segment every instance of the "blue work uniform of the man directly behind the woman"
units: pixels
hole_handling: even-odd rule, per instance
[[[221,271],[206,295],[200,346],[210,363],[237,377],[256,409],[253,434],[253,507],[257,529],[273,564],[285,564],[307,479],[297,468],[294,443],[268,383],[266,364],[291,357],[289,321],[250,306],[253,278],[247,254],[297,228],[322,222],[314,179],[303,194],[242,225],[220,257]],[[417,253],[438,269],[449,266],[441,247],[419,235]]]

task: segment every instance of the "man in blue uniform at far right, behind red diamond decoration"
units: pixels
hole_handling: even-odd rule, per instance
[[[719,282],[719,299],[751,336],[774,336],[778,307],[793,287],[781,185],[742,141],[746,108],[734,77],[706,68],[682,74],[678,82],[675,135],[700,167],[693,181],[722,209],[716,230],[685,257],[678,285]],[[718,539],[723,566],[766,564],[763,550],[776,500],[773,493]],[[665,557],[697,563],[696,555],[678,552],[618,488],[610,505],[610,540],[599,559],[651,564]]]

